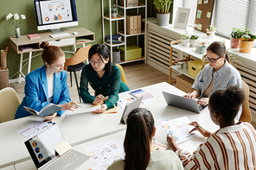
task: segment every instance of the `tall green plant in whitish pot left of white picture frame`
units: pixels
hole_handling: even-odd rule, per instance
[[[157,25],[167,26],[170,21],[170,4],[172,0],[153,0],[155,9],[157,9]]]

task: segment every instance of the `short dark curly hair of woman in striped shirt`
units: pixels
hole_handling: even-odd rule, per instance
[[[214,91],[209,98],[209,109],[221,114],[228,123],[234,120],[244,100],[244,91],[238,85],[229,85],[226,90]]]

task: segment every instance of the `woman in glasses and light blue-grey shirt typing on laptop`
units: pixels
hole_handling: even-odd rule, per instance
[[[216,90],[227,89],[228,85],[239,85],[242,89],[240,72],[230,64],[225,45],[221,41],[214,41],[207,48],[205,60],[208,64],[198,73],[192,89],[195,91],[186,94],[186,98],[199,98],[198,104],[207,105],[209,97]],[[240,119],[242,106],[236,116]]]

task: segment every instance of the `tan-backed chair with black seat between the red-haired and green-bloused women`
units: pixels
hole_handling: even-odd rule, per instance
[[[80,99],[80,90],[79,90],[79,85],[78,85],[78,81],[77,81],[75,72],[82,70],[83,67],[86,66],[84,62],[85,62],[85,60],[88,59],[88,52],[91,47],[92,47],[92,45],[90,44],[86,47],[78,48],[76,50],[76,53],[74,54],[74,56],[72,56],[69,59],[66,59],[66,62],[64,65],[64,70],[66,70],[67,72],[70,72],[71,86],[72,86],[72,72],[74,72],[74,78],[75,78],[75,83],[76,83],[76,88],[77,88],[79,99]],[[81,102],[81,99],[80,99],[80,102]]]

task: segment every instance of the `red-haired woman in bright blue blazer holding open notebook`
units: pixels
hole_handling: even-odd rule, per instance
[[[60,47],[49,46],[43,41],[43,66],[29,72],[26,76],[25,97],[22,104],[16,110],[15,118],[30,116],[29,111],[23,106],[40,111],[48,104],[58,104],[62,109],[51,116],[45,116],[47,120],[53,120],[55,116],[61,116],[65,110],[78,109],[74,102],[70,102],[67,88],[67,72],[63,70],[65,54]]]

